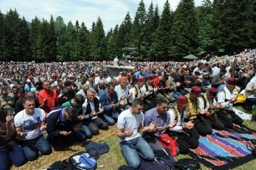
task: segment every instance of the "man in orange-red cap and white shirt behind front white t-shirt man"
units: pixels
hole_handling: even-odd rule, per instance
[[[115,86],[115,92],[117,92],[117,98],[119,106],[117,107],[118,113],[121,113],[123,110],[128,109],[130,106],[127,103],[133,93],[129,93],[129,88],[127,87],[127,77],[119,78],[119,85]]]

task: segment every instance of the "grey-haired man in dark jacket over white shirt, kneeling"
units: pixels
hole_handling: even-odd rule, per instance
[[[98,128],[108,130],[109,125],[104,121],[104,109],[101,107],[100,99],[96,97],[96,91],[93,88],[87,90],[87,97],[82,105],[82,114],[84,118],[89,118],[89,129],[93,135],[98,135]]]

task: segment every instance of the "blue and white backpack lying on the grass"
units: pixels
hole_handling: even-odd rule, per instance
[[[90,156],[84,151],[72,155],[69,157],[68,161],[70,164],[75,166],[76,169],[93,170],[97,168],[97,160],[94,156]]]

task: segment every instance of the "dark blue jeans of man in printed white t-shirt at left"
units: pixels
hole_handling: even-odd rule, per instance
[[[51,146],[43,135],[31,140],[20,140],[20,144],[27,160],[37,159],[38,150],[42,155],[49,155],[52,152]]]

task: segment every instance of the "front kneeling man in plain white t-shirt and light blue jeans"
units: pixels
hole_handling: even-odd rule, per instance
[[[123,111],[117,121],[117,136],[123,156],[129,167],[139,168],[141,156],[145,160],[154,160],[154,153],[150,145],[139,134],[140,132],[152,132],[155,128],[154,122],[150,126],[143,126],[143,101],[135,98],[131,108]],[[138,153],[139,152],[139,153]]]

